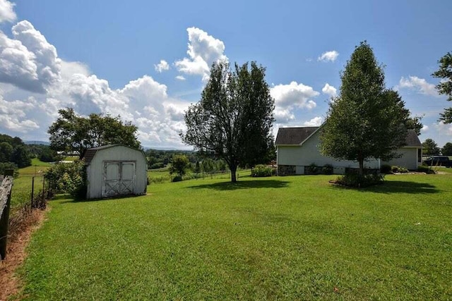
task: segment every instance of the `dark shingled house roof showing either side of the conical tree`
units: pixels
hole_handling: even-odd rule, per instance
[[[300,128],[279,128],[275,145],[300,145],[307,140],[319,127],[309,126]],[[422,147],[415,130],[408,130],[406,147]]]

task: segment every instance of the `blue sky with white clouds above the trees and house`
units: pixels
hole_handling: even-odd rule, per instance
[[[413,116],[420,140],[452,142],[452,106],[432,73],[452,51],[452,1],[0,0],[0,133],[49,139],[71,107],[120,115],[143,147],[191,149],[179,132],[209,68],[266,67],[278,128],[321,125],[340,73],[366,40]]]

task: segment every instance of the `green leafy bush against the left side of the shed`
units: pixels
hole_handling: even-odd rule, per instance
[[[44,173],[51,188],[69,193],[72,197],[86,197],[86,167],[83,160],[72,163],[57,163]]]

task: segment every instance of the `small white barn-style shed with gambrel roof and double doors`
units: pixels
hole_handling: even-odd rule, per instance
[[[143,195],[148,185],[148,163],[141,150],[124,145],[87,149],[87,199]]]

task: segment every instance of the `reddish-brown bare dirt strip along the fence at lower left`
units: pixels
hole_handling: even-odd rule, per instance
[[[47,209],[49,210],[49,209]],[[7,300],[8,297],[17,294],[20,290],[20,279],[15,275],[15,271],[23,264],[26,257],[25,248],[30,242],[33,232],[35,232],[44,221],[47,210],[32,210],[20,225],[21,231],[16,231],[8,237],[6,259],[0,262],[0,300]]]

